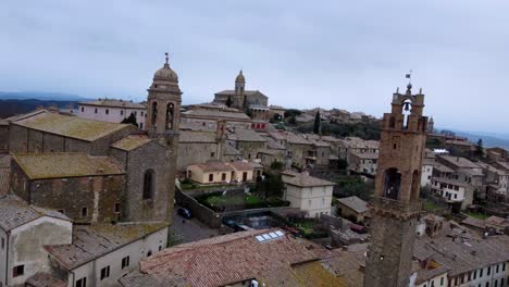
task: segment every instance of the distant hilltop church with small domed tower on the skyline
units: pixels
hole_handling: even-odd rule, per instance
[[[253,120],[269,121],[269,98],[259,90],[246,90],[243,71],[235,78],[235,89],[223,90],[214,95],[214,102],[235,108],[251,115]]]

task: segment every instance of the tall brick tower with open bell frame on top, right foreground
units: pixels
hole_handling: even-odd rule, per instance
[[[393,95],[392,112],[382,121],[364,287],[409,285],[427,130],[424,95],[411,89],[408,84],[405,93]]]

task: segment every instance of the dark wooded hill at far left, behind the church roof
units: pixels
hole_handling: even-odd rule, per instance
[[[69,109],[70,104],[77,101],[58,101],[58,100],[0,100],[0,118],[12,116],[15,114],[28,113],[38,107],[57,105],[61,109]]]

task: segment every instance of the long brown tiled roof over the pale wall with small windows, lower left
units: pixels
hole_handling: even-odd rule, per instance
[[[75,225],[73,244],[46,246],[45,249],[61,267],[73,270],[166,227],[164,222]]]

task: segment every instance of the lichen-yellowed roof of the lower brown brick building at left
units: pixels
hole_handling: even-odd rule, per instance
[[[12,159],[30,179],[124,174],[113,158],[80,152],[13,154]]]

